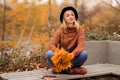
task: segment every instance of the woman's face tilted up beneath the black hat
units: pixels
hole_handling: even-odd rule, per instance
[[[72,24],[75,22],[75,14],[72,10],[67,10],[64,13],[64,20],[66,22],[66,24]]]

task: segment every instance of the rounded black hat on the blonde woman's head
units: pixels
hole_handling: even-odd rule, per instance
[[[77,10],[76,10],[74,7],[72,7],[72,6],[68,6],[68,7],[63,8],[62,11],[61,11],[61,14],[60,14],[60,22],[61,22],[61,23],[63,22],[63,15],[64,15],[64,13],[65,13],[67,10],[72,10],[72,11],[74,12],[74,14],[75,14],[75,19],[76,19],[76,20],[78,19]]]

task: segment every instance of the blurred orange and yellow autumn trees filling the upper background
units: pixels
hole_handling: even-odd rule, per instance
[[[42,36],[53,36],[54,31],[59,28],[59,14],[64,6],[72,5],[79,13],[78,21],[84,26],[85,33],[91,29],[104,26],[105,31],[112,35],[120,34],[120,1],[113,0],[64,0],[58,5],[57,0],[48,0],[46,3],[38,4],[41,0],[4,0],[0,1],[0,39],[2,39],[3,15],[5,7],[5,40],[32,42],[35,38]],[[94,4],[94,5],[93,5]],[[98,31],[99,32],[99,31]],[[44,33],[44,34],[43,34]],[[43,40],[44,41],[44,40]],[[33,41],[34,42],[34,41]],[[38,41],[39,42],[39,41]],[[40,41],[41,42],[41,41]]]

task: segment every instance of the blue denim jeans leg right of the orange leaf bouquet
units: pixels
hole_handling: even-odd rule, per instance
[[[85,63],[85,61],[87,60],[87,57],[88,57],[87,51],[83,50],[78,56],[76,56],[72,60],[73,67],[82,66]]]

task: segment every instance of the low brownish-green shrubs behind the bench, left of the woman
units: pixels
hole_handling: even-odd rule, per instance
[[[31,53],[29,56],[24,56],[20,51],[4,54],[0,57],[0,74],[8,72],[22,72],[31,70],[47,69],[50,65],[46,62],[44,54]]]

